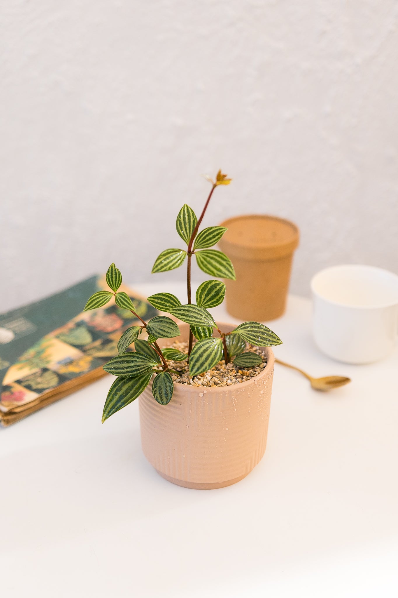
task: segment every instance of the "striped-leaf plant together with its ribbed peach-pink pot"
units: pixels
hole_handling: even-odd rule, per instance
[[[96,292],[85,306],[85,310],[102,307],[114,296],[119,307],[131,310],[140,321],[122,334],[119,355],[104,365],[117,377],[106,398],[103,422],[140,396],[141,442],[147,459],[169,481],[197,489],[233,484],[263,457],[274,365],[269,347],[282,342],[259,322],[235,327],[214,321],[208,308],[224,300],[221,280],[203,282],[192,303],[193,255],[206,274],[235,279],[229,258],[211,249],[227,229],[199,231],[215,188],[231,179],[220,170],[215,181],[208,180],[212,187],[199,219],[187,205],[177,216],[177,232],[187,249],[166,249],[152,269],[153,273],[172,270],[187,259],[187,303],[170,293],[147,299],[183,324],[179,327],[165,315],[144,321],[128,295],[118,291],[122,275],[115,264],[106,274],[110,290]],[[143,332],[147,338],[138,338]]]

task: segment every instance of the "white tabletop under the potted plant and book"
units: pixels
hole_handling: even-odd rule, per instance
[[[159,280],[135,288],[184,297]],[[138,401],[101,425],[109,376],[1,429],[1,596],[398,596],[398,350],[334,362],[310,312],[289,298],[276,356],[353,382],[323,394],[276,364],[266,454],[235,486],[163,480]]]

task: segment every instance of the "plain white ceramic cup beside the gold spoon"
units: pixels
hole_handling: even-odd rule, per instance
[[[373,266],[332,266],[311,280],[319,349],[347,364],[390,353],[398,337],[398,276]]]

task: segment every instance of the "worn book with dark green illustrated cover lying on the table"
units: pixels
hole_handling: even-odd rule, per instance
[[[84,312],[88,298],[108,290],[95,275],[27,306],[0,315],[0,424],[8,426],[30,413],[104,376],[102,369],[118,355],[118,340],[139,321],[116,306]],[[159,312],[122,285],[141,318]]]

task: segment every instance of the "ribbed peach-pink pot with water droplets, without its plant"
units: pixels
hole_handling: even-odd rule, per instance
[[[218,324],[223,332],[235,326]],[[180,324],[187,340],[189,327]],[[144,455],[166,480],[178,486],[208,490],[242,480],[266,450],[274,355],[267,347],[261,374],[233,386],[200,388],[174,385],[168,405],[159,405],[151,385],[140,396]]]

